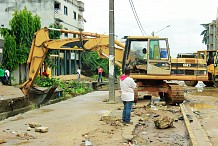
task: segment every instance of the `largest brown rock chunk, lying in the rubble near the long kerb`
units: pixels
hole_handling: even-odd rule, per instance
[[[173,127],[174,118],[169,116],[160,117],[154,120],[155,127],[158,129],[166,129]]]

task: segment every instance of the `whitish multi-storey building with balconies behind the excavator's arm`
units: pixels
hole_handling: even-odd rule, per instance
[[[84,30],[84,3],[77,0],[1,0],[0,27],[9,28],[14,11],[23,10],[24,7],[41,18],[42,27],[49,27],[50,24],[58,22],[65,29]],[[62,35],[62,38],[64,37],[76,36],[65,33]],[[79,51],[60,51],[57,56],[54,61],[59,68],[53,69],[53,75],[74,74],[81,65]]]

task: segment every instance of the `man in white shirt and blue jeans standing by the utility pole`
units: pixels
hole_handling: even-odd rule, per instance
[[[120,76],[121,98],[124,105],[122,120],[124,124],[129,124],[134,102],[134,89],[136,88],[136,83],[131,77],[129,77],[130,69],[128,67],[125,68],[124,73],[125,74]]]

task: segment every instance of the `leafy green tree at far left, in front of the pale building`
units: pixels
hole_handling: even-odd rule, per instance
[[[41,21],[39,16],[33,16],[25,7],[22,11],[14,12],[9,26],[10,29],[0,29],[0,33],[4,37],[2,64],[4,67],[10,68],[10,71],[14,71],[19,64],[26,63],[32,37],[41,27]],[[16,48],[16,52],[14,48]]]

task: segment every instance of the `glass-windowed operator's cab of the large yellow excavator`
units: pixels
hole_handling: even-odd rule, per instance
[[[123,67],[130,66],[133,74],[170,75],[170,52],[166,38],[153,36],[125,38]]]

